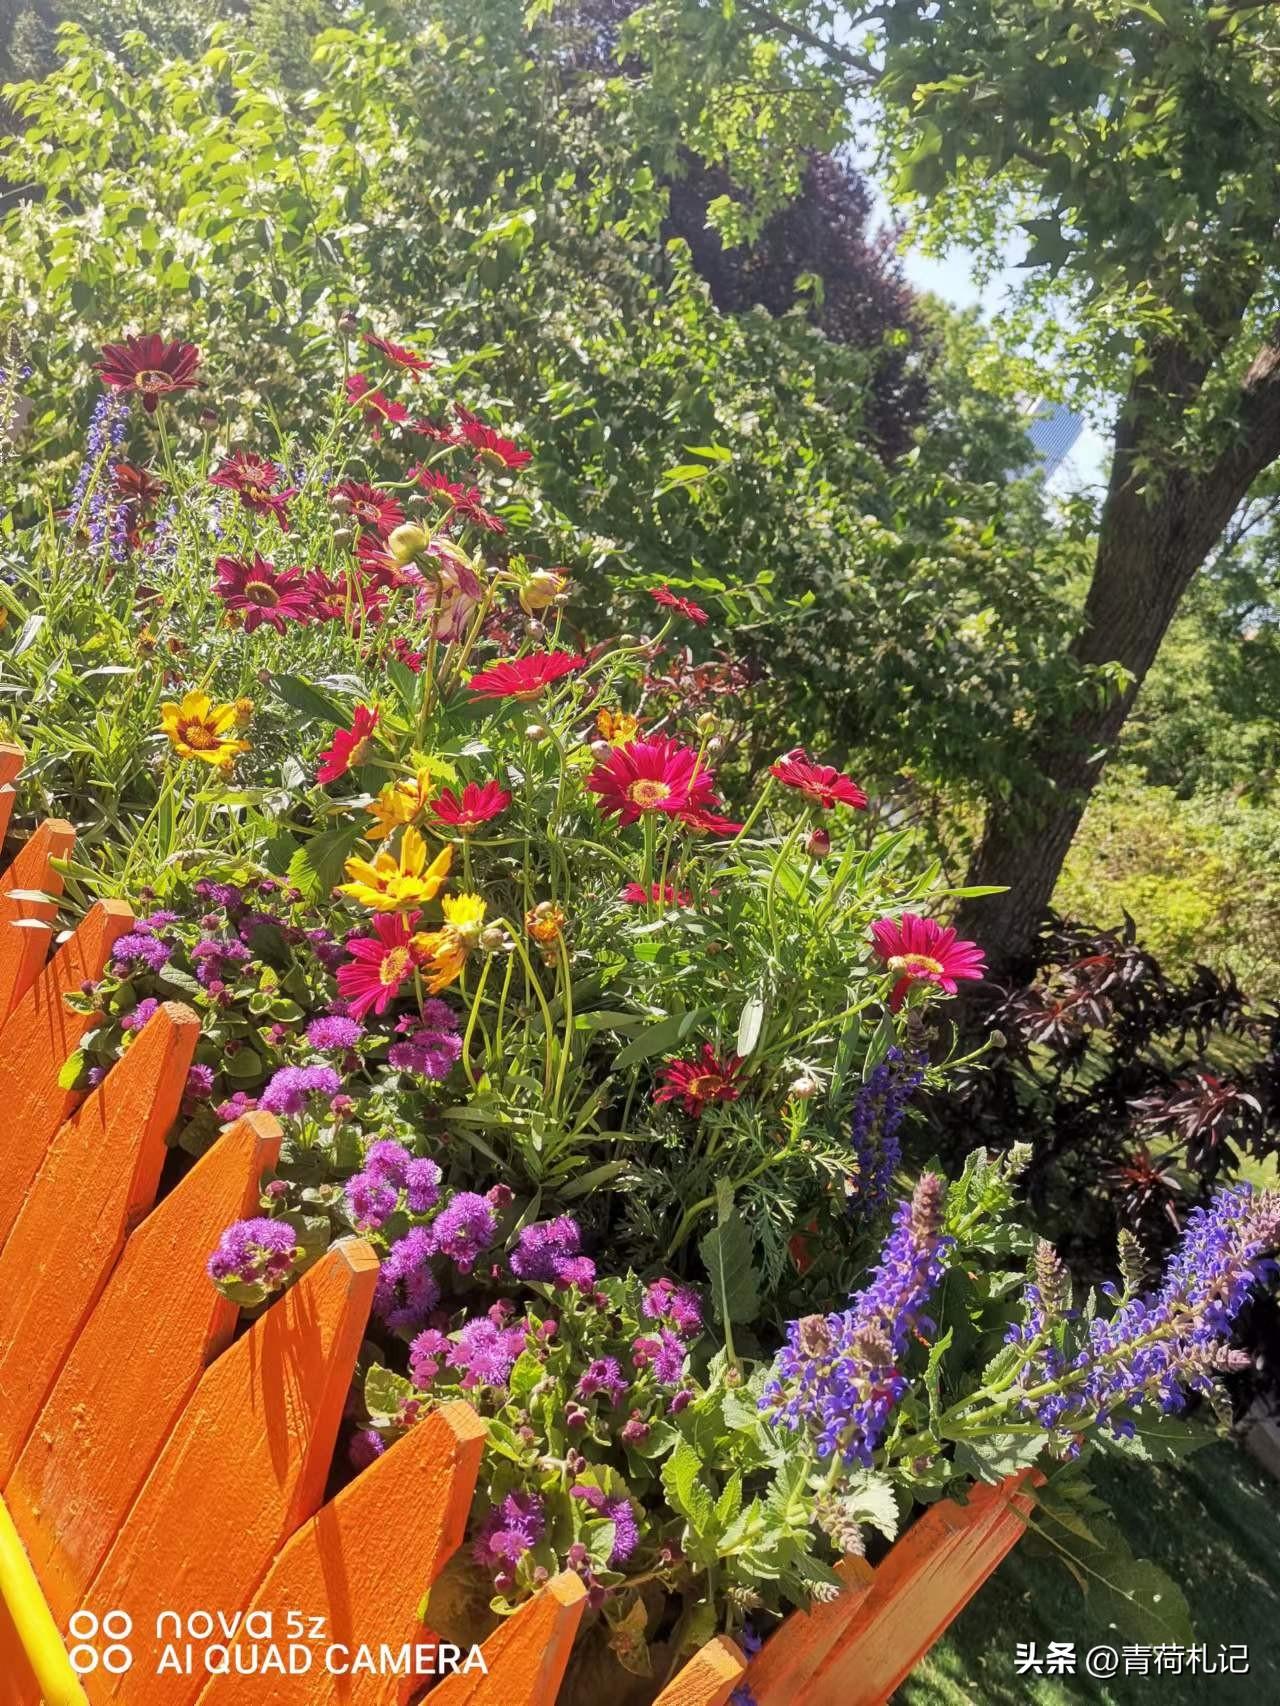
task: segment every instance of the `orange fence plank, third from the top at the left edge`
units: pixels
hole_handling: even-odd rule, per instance
[[[73,1013],[63,995],[102,976],[113,942],[131,923],[123,901],[97,901],[0,1029],[0,1245],[49,1138],[82,1100],[58,1088],[58,1073],[94,1015]]]

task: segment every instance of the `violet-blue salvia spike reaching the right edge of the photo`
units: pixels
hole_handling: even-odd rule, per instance
[[[1188,1392],[1212,1390],[1215,1373],[1246,1360],[1229,1346],[1231,1324],[1249,1291],[1275,1278],[1278,1245],[1280,1191],[1219,1191],[1208,1208],[1188,1215],[1157,1291],[1121,1303],[1109,1320],[1094,1317],[1068,1367],[1051,1344],[1033,1358],[1019,1380],[1024,1414],[1068,1452],[1087,1426],[1133,1433],[1125,1411],[1140,1404],[1176,1414]],[[1043,1283],[1026,1295],[1027,1315],[1010,1331],[1012,1343],[1029,1343],[1048,1326]],[[1053,1385],[1060,1390],[1041,1390]]]

